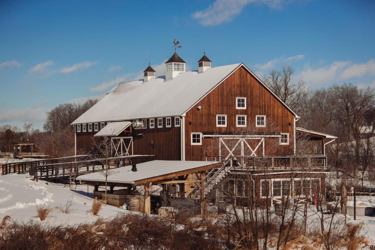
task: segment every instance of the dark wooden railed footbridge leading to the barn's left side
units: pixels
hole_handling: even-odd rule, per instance
[[[3,164],[2,175],[10,173],[30,173],[38,179],[47,179],[58,177],[77,177],[87,173],[101,172],[105,169],[104,160],[101,158],[92,158],[90,155],[77,155],[72,157],[62,157],[54,159],[42,159],[35,161],[23,161],[18,163]],[[129,166],[131,164],[143,163],[155,160],[154,155],[126,155],[120,157],[111,157],[110,169]]]

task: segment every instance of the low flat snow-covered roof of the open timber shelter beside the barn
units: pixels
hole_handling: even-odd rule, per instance
[[[148,161],[136,165],[137,171],[132,172],[132,166],[111,169],[114,175],[108,176],[107,182],[133,184],[136,181],[149,179],[161,175],[195,169],[198,167],[210,166],[219,163],[218,161]],[[90,173],[77,177],[79,181],[105,182],[105,176],[101,172]]]

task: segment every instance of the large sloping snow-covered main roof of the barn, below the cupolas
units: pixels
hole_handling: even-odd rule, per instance
[[[240,65],[119,83],[72,124],[180,116]]]

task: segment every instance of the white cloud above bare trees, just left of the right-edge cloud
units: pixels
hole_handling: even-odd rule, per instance
[[[349,65],[350,62],[348,61],[338,61],[333,62],[331,65],[317,69],[307,67],[296,75],[296,78],[306,81],[306,83],[309,85],[315,86],[331,83],[332,81],[337,81],[339,74]]]

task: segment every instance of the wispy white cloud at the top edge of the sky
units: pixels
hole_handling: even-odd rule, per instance
[[[284,0],[216,0],[204,11],[197,11],[192,14],[192,18],[197,19],[205,26],[214,26],[225,21],[232,20],[240,14],[243,8],[250,3],[268,5],[270,8],[281,8]]]

